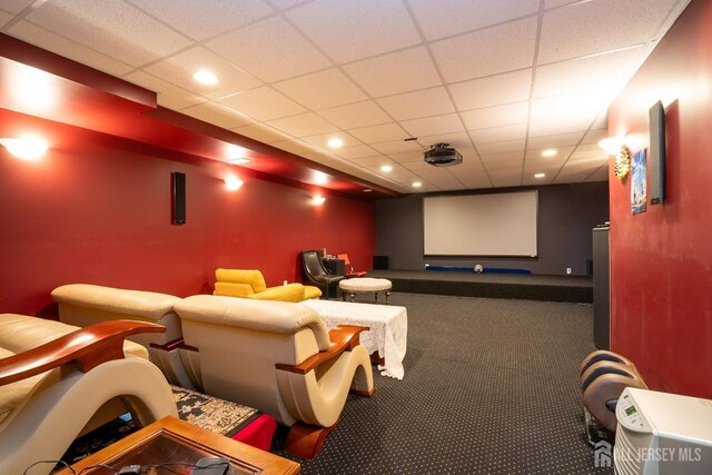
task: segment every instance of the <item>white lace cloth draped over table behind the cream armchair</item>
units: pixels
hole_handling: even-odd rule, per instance
[[[368,331],[360,334],[360,343],[368,353],[378,352],[384,359],[384,366],[378,366],[383,376],[403,379],[403,358],[408,336],[405,307],[333,300],[305,300],[301,305],[319,314],[329,329],[337,325],[369,327]]]

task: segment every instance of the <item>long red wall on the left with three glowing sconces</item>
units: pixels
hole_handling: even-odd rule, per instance
[[[307,190],[249,177],[230,192],[222,179],[240,167],[0,111],[52,137],[36,162],[0,147],[0,311],[51,314],[49,293],[69,283],[208,293],[217,267],[300,281],[303,249],[370,266],[372,202],[326,195],[315,207]],[[184,226],[171,225],[171,171],[186,174]]]

